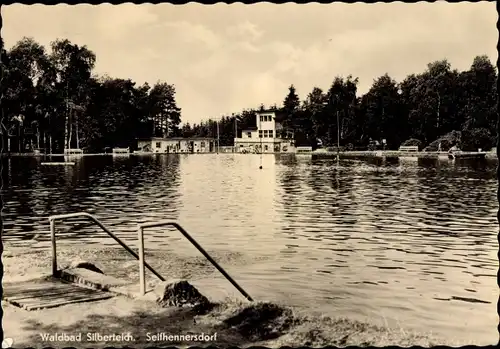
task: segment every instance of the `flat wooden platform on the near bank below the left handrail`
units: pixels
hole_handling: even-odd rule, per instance
[[[21,282],[4,283],[3,299],[26,310],[109,299],[116,294],[77,286],[52,276]]]

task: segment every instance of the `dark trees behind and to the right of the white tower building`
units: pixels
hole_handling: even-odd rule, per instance
[[[336,77],[327,91],[314,87],[304,100],[291,85],[280,108],[283,124],[294,132],[297,145],[348,149],[490,149],[496,144],[497,72],[487,56],[474,58],[469,70],[452,69],[445,59],[429,63],[420,74],[397,82],[388,74],[375,79],[357,96],[359,79]],[[263,106],[261,106],[263,108]],[[255,110],[219,121],[221,145],[232,145],[235,118],[241,128],[255,125]],[[214,134],[214,121],[190,126],[189,135]],[[238,136],[241,136],[238,133]]]

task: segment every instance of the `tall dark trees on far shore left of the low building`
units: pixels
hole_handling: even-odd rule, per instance
[[[174,85],[98,76],[96,55],[66,39],[50,51],[32,38],[8,51],[0,44],[3,149],[95,152],[133,146],[138,137],[179,135]]]

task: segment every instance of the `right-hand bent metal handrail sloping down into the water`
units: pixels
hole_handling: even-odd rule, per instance
[[[245,292],[244,289],[240,287],[236,283],[236,281],[233,280],[231,276],[229,276],[228,273],[219,265],[217,262],[203,249],[203,247],[196,242],[195,239],[193,239],[184,228],[182,228],[179,224],[175,222],[168,222],[168,221],[163,221],[163,222],[157,222],[157,223],[144,223],[144,224],[139,224],[138,225],[138,237],[139,237],[139,278],[140,278],[140,288],[141,288],[141,295],[144,295],[146,293],[146,280],[144,277],[144,266],[146,265],[146,262],[144,262],[144,229],[145,228],[153,228],[153,227],[164,227],[164,226],[172,226],[176,228],[178,231],[184,235],[186,239],[189,240],[190,243],[194,245],[198,249],[198,251],[201,252],[201,254],[208,259],[212,265],[217,268],[217,270],[224,275],[224,277],[238,290],[240,293],[249,301],[253,301],[252,297],[248,295],[248,293]]]

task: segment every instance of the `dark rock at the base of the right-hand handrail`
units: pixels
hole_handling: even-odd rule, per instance
[[[200,307],[209,305],[207,297],[185,280],[161,282],[155,287],[156,302],[162,307]]]

